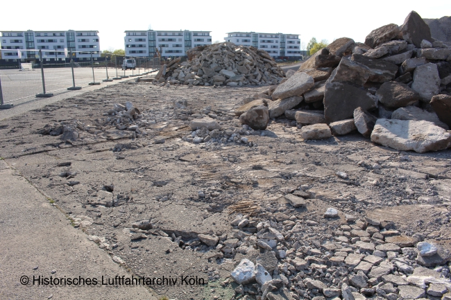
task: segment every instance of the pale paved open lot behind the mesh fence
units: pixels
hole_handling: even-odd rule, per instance
[[[116,73],[117,71],[117,73]],[[146,72],[149,69],[146,69]],[[135,69],[122,71],[121,69],[108,68],[108,77],[142,75],[144,69]],[[74,68],[75,85],[78,87],[87,87],[90,82],[102,82],[107,78],[105,68],[94,68],[94,79],[92,68],[80,67]],[[42,93],[41,70],[33,69],[31,71],[0,70],[1,89],[3,92],[3,101],[5,103],[15,100],[35,96]],[[67,91],[72,87],[71,68],[49,68],[44,69],[44,80],[46,92],[58,94]]]

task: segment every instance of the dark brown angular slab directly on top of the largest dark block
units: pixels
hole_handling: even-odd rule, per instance
[[[337,69],[334,69],[327,82],[342,82],[363,87],[370,75],[371,71],[368,67],[349,58],[342,58]]]

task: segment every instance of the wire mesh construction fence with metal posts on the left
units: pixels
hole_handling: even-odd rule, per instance
[[[8,103],[16,100],[51,97],[59,91],[142,76],[160,68],[158,58],[133,58],[111,53],[46,49],[8,50],[8,55],[3,52],[3,59],[0,59],[1,108],[11,107]]]

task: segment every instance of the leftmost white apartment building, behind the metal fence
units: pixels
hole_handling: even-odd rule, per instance
[[[39,58],[39,52],[27,49],[42,50],[45,60],[65,60],[69,53],[77,60],[90,60],[100,57],[99,31],[67,30],[67,31],[1,31],[1,57],[3,59]],[[23,49],[24,51],[17,51]],[[15,50],[15,51],[12,51]],[[56,52],[55,52],[56,51]]]

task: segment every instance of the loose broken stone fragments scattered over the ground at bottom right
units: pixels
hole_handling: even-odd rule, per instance
[[[284,197],[301,207],[300,195],[311,197],[302,189]],[[244,299],[255,294],[259,299],[451,297],[451,253],[420,233],[407,236],[391,221],[345,215],[346,222],[335,227],[333,237],[309,240],[305,226],[318,223],[282,212],[274,217],[257,221],[238,214],[230,223],[232,233],[199,234],[196,243],[192,240],[186,247],[201,247],[201,242],[212,259],[240,257],[230,276],[239,285],[235,293]],[[324,218],[338,219],[339,211],[329,208]]]

